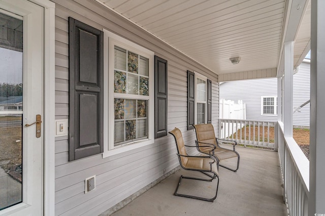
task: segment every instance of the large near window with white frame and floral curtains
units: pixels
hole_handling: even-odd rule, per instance
[[[104,59],[105,157],[153,143],[154,54],[104,29]]]

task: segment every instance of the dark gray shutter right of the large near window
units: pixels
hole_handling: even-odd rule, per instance
[[[154,56],[154,138],[167,135],[167,60]]]

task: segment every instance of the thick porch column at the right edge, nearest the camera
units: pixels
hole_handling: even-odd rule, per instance
[[[308,215],[325,214],[325,1],[311,1]]]

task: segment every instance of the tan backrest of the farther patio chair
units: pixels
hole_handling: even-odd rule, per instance
[[[212,124],[194,124],[193,125],[197,134],[197,140],[203,143],[214,144],[217,147],[215,139],[214,128]],[[200,144],[199,146],[204,144]]]

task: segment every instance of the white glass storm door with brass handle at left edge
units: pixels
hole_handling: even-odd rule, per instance
[[[42,19],[40,6],[0,0],[0,215],[43,212]]]

